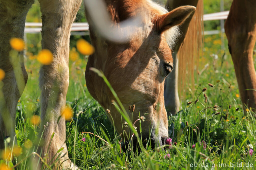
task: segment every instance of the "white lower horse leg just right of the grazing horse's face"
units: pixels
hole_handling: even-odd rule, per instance
[[[173,54],[173,70],[165,80],[164,100],[167,114],[174,115],[179,111],[179,94],[178,94],[178,58],[177,52]]]

